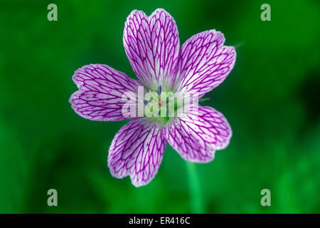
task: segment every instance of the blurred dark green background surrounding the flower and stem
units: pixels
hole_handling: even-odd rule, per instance
[[[58,21],[47,6],[58,6]],[[272,21],[261,21],[260,6]],[[122,46],[133,9],[174,16],[180,43],[215,28],[237,61],[206,95],[233,128],[215,160],[196,165],[206,213],[320,212],[319,1],[0,1],[0,212],[186,213],[186,162],[167,145],[145,187],[117,180],[107,151],[126,121],[80,118],[73,72],[105,63],[134,76]],[[58,190],[58,207],[47,191]],[[271,190],[271,207],[260,191]]]

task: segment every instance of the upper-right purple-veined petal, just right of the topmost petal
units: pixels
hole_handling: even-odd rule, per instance
[[[198,93],[201,98],[222,83],[235,65],[235,48],[223,46],[225,37],[210,30],[189,38],[181,47],[177,66],[177,90]]]

